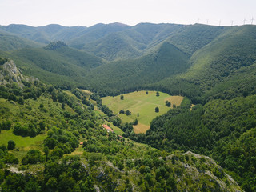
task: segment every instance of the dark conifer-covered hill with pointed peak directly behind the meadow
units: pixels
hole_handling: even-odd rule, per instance
[[[186,54],[169,43],[163,43],[153,54],[134,60],[106,63],[92,70],[88,79],[89,88],[102,95],[109,90],[120,93],[141,89],[149,83],[182,73],[188,66]]]

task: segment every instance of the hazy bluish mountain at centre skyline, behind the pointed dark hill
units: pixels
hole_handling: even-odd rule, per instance
[[[86,43],[81,49],[108,61],[137,58],[149,53],[147,50],[152,47],[155,50],[155,46],[180,27],[172,24],[141,23]]]

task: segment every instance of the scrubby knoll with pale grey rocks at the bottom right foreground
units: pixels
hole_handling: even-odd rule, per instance
[[[171,154],[166,159],[172,162],[174,172],[178,173],[176,174],[178,186],[190,190],[243,191],[212,158],[188,151],[185,154]],[[189,180],[190,183],[187,183]]]

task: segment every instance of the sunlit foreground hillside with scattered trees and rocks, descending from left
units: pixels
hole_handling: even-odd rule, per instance
[[[25,76],[8,58],[0,90],[1,191],[242,191],[212,158],[102,129],[90,94]]]

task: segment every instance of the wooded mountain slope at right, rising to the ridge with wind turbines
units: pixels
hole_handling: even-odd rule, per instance
[[[255,30],[256,26],[238,26],[219,35],[190,58],[193,64],[185,78],[209,89],[241,67],[252,65],[256,61]]]

